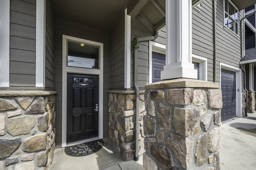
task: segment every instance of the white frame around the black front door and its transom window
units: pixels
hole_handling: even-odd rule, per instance
[[[100,48],[100,69],[68,67],[67,66],[67,42],[79,42],[98,46]],[[67,73],[99,75],[99,136],[91,139],[80,140],[67,144]],[[103,43],[84,40],[81,38],[62,35],[62,147],[76,145],[103,138]]]

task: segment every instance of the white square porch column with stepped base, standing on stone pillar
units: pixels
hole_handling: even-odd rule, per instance
[[[166,66],[161,80],[197,79],[192,64],[191,0],[166,0]]]

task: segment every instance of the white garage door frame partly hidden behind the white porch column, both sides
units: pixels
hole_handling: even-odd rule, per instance
[[[149,83],[152,83],[152,52],[165,55],[164,44],[160,44],[154,41],[149,41]],[[192,54],[192,61],[199,62],[200,80],[207,81],[207,58]]]

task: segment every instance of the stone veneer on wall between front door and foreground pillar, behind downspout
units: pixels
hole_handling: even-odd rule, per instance
[[[134,155],[134,130],[135,130],[135,94],[134,91],[111,90],[109,93],[109,130],[108,137],[126,161]],[[146,114],[144,91],[140,91],[140,132],[139,155],[144,150],[143,116]]]

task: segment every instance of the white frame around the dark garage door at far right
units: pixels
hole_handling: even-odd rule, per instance
[[[220,89],[221,89],[221,69],[226,69],[236,72],[236,116],[242,115],[242,70],[240,68],[230,66],[220,62]],[[239,91],[238,91],[239,89]]]

